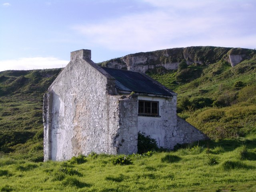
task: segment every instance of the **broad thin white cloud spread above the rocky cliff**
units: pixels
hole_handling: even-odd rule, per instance
[[[246,12],[251,15],[249,18],[241,16],[245,14],[240,10],[243,2],[230,6],[229,0],[144,1],[155,6],[155,10],[94,24],[80,24],[72,29],[82,34],[84,41],[91,44],[132,52],[213,45],[215,42],[220,43],[216,46],[232,46],[240,42],[240,46],[248,47],[251,42],[256,41],[253,35],[255,26],[253,21],[251,24],[248,21],[255,18],[254,13]],[[250,32],[248,28],[251,28]],[[251,36],[253,39],[249,40],[245,36]]]

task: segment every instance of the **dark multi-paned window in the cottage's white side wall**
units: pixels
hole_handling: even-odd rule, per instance
[[[159,116],[158,102],[139,100],[139,116]]]

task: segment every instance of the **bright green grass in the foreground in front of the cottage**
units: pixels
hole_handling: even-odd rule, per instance
[[[113,165],[116,156],[104,154],[88,156],[81,164],[0,158],[0,191],[252,192],[256,159],[240,160],[239,154],[246,146],[256,156],[255,138],[202,142],[152,156],[131,155],[129,165]],[[218,164],[209,164],[208,154],[218,157]]]

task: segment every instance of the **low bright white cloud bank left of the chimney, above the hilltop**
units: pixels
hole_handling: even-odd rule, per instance
[[[0,60],[0,71],[4,70],[32,70],[62,68],[69,61],[59,60],[54,57],[19,58],[17,60]]]

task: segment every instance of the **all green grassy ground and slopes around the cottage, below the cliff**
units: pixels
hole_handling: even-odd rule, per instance
[[[0,72],[0,192],[256,191],[255,55],[235,67],[220,58],[148,73],[178,93],[178,115],[211,140],[126,159],[43,163],[42,98],[60,71]]]

